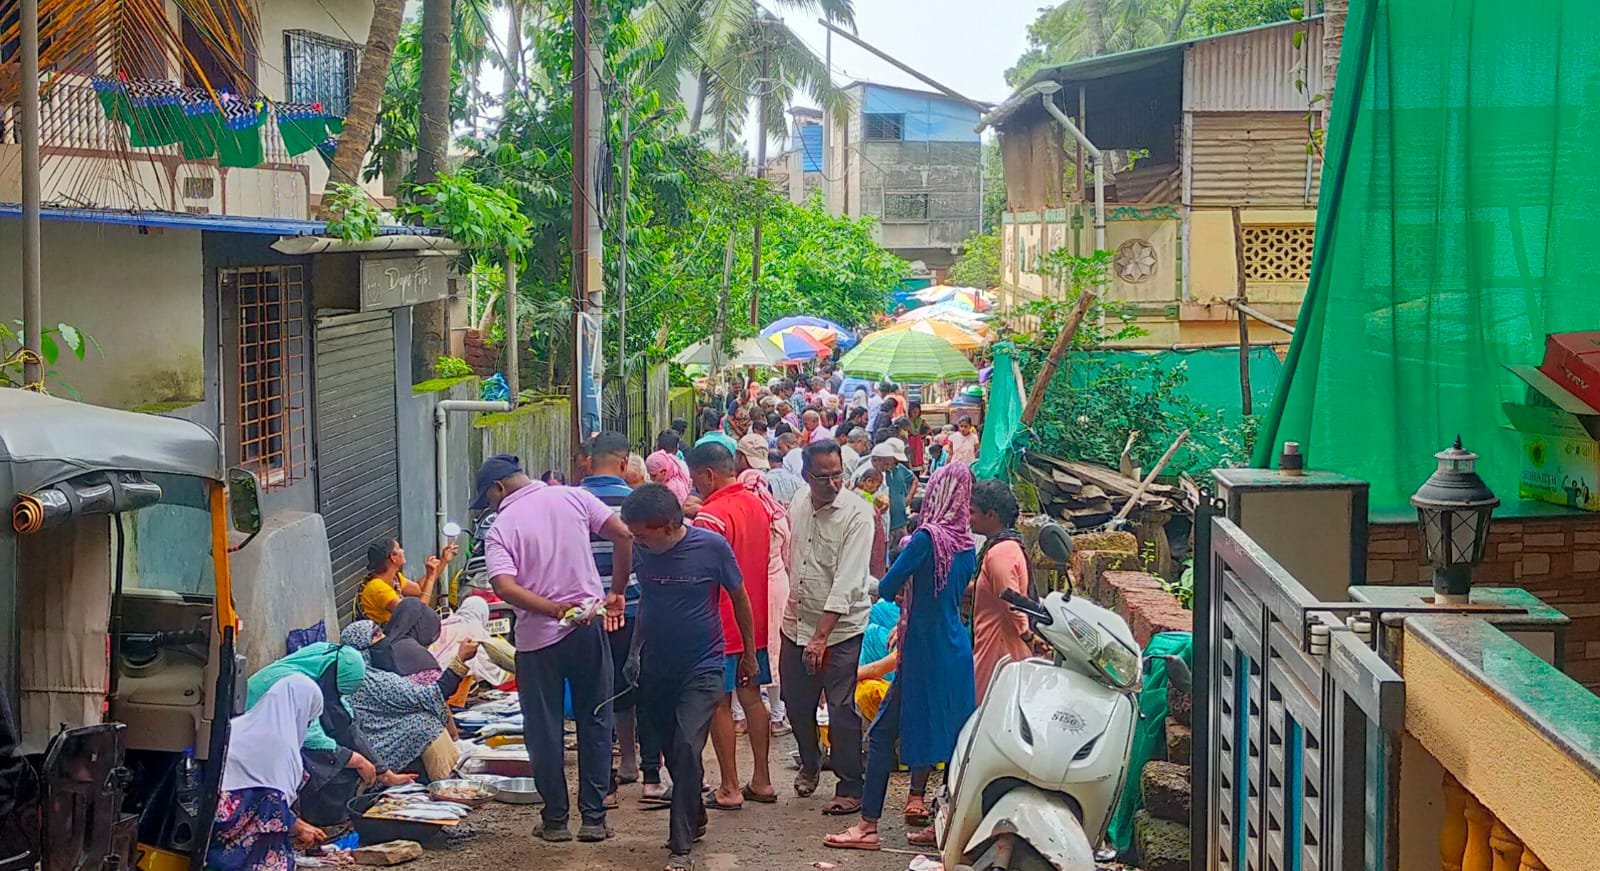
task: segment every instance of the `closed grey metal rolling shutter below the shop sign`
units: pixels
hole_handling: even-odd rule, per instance
[[[400,535],[394,314],[317,320],[317,504],[347,620],[366,546]]]

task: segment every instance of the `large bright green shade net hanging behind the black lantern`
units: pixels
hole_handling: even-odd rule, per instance
[[[1600,327],[1594,0],[1357,0],[1333,91],[1310,287],[1256,444],[1406,509],[1459,432],[1517,512],[1502,368]],[[1526,506],[1525,506],[1526,508]]]

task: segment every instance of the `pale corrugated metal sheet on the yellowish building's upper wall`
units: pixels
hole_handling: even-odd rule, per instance
[[[1322,21],[1195,42],[1184,54],[1184,110],[1309,110],[1322,88]],[[1294,48],[1294,32],[1306,37]],[[1294,86],[1306,82],[1304,93]]]

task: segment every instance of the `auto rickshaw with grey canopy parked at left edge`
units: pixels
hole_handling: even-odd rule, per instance
[[[254,476],[198,424],[0,389],[0,869],[198,869]]]

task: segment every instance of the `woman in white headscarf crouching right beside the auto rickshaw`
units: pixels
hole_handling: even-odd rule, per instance
[[[206,868],[286,871],[294,868],[296,844],[325,837],[293,810],[306,780],[301,745],[320,716],[317,682],[288,674],[234,717]]]

